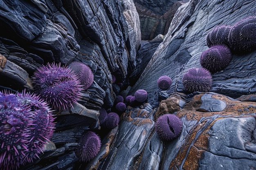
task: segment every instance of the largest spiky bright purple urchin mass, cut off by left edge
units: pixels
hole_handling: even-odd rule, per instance
[[[31,163],[52,138],[52,111],[34,93],[0,92],[0,167],[17,169]]]

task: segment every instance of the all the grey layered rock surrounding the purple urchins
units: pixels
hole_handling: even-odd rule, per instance
[[[159,16],[171,9],[166,5],[162,10],[160,1],[151,3],[153,8],[144,1],[137,3],[155,9]],[[166,35],[151,41],[141,41],[135,4],[130,0],[0,2],[1,90],[32,93],[30,77],[47,62],[63,66],[83,62],[94,74],[78,103],[54,112],[55,132],[44,153],[19,169],[256,169],[256,52],[232,54],[229,66],[212,74],[210,92],[187,93],[182,85],[182,75],[200,67],[200,54],[208,49],[207,33],[217,25],[256,15],[256,2],[182,2],[165,26]],[[167,90],[157,86],[162,75],[172,79]],[[124,101],[127,107],[118,113],[118,126],[101,126],[99,110],[112,112],[119,93],[125,98],[138,89],[147,91],[147,100],[133,105]],[[183,123],[181,135],[168,142],[155,132],[155,121],[166,113]],[[101,148],[90,162],[79,162],[75,151],[88,130],[99,134]]]

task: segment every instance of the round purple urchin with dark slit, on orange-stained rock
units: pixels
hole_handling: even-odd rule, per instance
[[[170,141],[178,137],[182,131],[182,121],[173,114],[164,114],[157,118],[155,131],[164,141]]]

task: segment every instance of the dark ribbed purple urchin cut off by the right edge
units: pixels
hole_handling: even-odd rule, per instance
[[[249,16],[236,22],[229,32],[232,53],[243,54],[256,49],[256,17]]]

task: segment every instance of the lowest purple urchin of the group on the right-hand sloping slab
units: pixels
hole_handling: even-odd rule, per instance
[[[182,84],[189,92],[208,92],[211,90],[211,73],[205,68],[190,68],[182,78]]]

